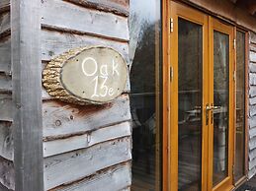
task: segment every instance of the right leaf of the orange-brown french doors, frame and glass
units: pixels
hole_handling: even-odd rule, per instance
[[[210,54],[210,187],[228,189],[232,185],[234,120],[233,27],[211,19]]]

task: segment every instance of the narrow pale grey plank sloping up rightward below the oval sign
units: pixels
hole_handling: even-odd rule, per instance
[[[101,142],[127,137],[130,135],[130,131],[129,122],[125,122],[80,136],[47,141],[43,143],[43,157],[46,158],[78,149],[85,149]]]

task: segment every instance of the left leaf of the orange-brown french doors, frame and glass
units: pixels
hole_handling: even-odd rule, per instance
[[[208,16],[172,2],[171,17],[171,190],[198,191],[207,186]]]

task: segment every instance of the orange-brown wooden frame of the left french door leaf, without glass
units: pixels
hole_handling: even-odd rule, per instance
[[[192,9],[187,6],[183,6],[181,4],[172,2],[170,3],[169,7],[172,8],[172,10],[169,10],[170,17],[173,19],[173,32],[172,35],[170,33],[170,36],[168,40],[169,46],[168,46],[168,65],[166,64],[165,71],[170,71],[170,68],[172,68],[173,79],[170,79],[169,81],[169,91],[168,93],[172,93],[168,96],[169,103],[171,105],[169,109],[169,148],[170,148],[170,162],[169,165],[170,168],[170,190],[178,190],[178,113],[174,109],[178,108],[178,17],[183,18],[187,21],[193,22],[195,24],[199,24],[203,28],[203,60],[205,65],[203,65],[203,70],[206,72],[203,72],[203,89],[206,89],[209,85],[209,82],[207,81],[208,76],[208,62],[209,62],[209,56],[208,56],[208,16],[198,10]],[[173,48],[172,48],[173,47]],[[171,56],[171,55],[177,55],[177,56]],[[209,102],[208,100],[208,91],[203,91],[203,107],[205,107],[206,103]],[[208,153],[206,152],[208,148],[208,129],[205,128],[206,126],[206,109],[203,109],[203,115],[202,115],[202,187],[204,189],[207,188],[207,176],[204,175],[207,173],[206,166],[207,164],[207,158]]]

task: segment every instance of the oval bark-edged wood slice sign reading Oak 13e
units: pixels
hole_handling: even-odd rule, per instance
[[[71,49],[43,70],[43,86],[50,96],[77,104],[102,104],[120,96],[128,79],[127,63],[109,47]]]

